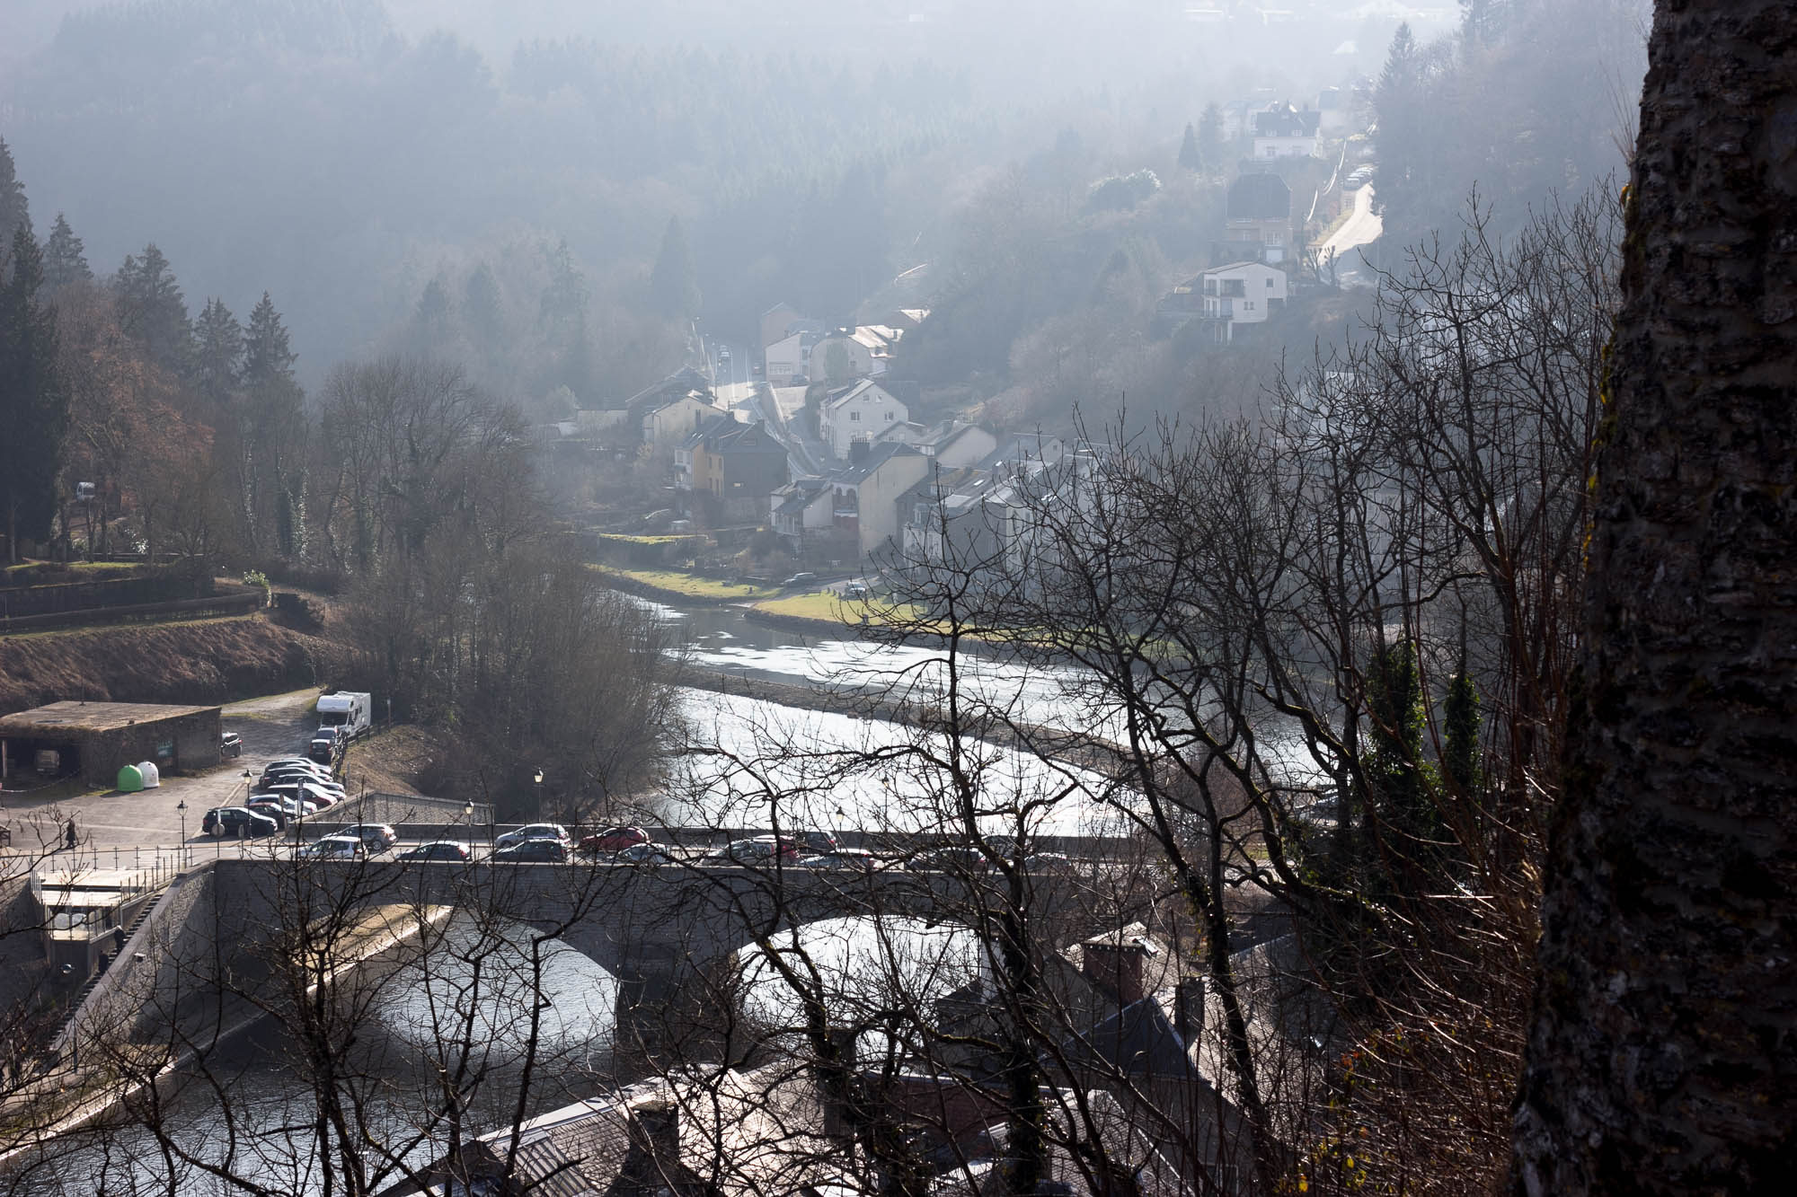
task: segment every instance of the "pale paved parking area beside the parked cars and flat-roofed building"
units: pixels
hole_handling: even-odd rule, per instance
[[[316,701],[318,690],[293,690],[232,703],[223,712],[223,728],[243,737],[243,757],[226,757],[216,769],[199,775],[167,776],[156,789],[9,800],[4,816],[13,830],[13,854],[36,856],[59,848],[66,821],[74,818],[81,852],[92,852],[95,864],[111,866],[117,859],[120,866],[131,866],[147,861],[156,848],[173,850],[181,841],[183,802],[187,841],[212,843],[210,836],[199,834],[207,811],[244,800],[246,769],[261,776],[273,757],[304,753],[318,726]]]

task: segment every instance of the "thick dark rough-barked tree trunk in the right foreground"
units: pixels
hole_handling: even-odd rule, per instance
[[[1520,1193],[1790,1192],[1797,4],[1660,0]]]

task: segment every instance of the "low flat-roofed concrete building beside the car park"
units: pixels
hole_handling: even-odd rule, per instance
[[[56,753],[40,769],[40,753]],[[79,775],[111,789],[119,769],[153,760],[162,773],[192,773],[219,762],[217,706],[153,703],[50,703],[0,717],[0,778],[25,773]]]

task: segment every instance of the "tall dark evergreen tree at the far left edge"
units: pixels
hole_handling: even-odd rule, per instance
[[[0,270],[0,530],[43,541],[56,516],[56,474],[68,439],[68,390],[56,370],[56,309],[41,304],[43,252],[23,225]]]

